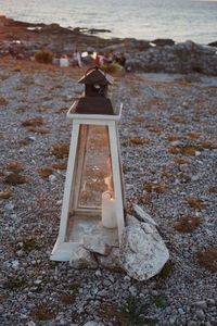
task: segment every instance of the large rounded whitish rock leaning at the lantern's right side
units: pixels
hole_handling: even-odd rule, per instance
[[[158,274],[169,259],[169,252],[152,224],[127,226],[120,244],[120,263],[127,274],[145,280]]]

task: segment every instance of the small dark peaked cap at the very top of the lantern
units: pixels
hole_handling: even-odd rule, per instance
[[[106,76],[105,72],[98,66],[90,68],[87,73],[78,80],[79,84],[99,84],[99,85],[112,85],[112,80]]]

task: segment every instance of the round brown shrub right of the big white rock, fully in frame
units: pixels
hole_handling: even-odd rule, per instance
[[[180,233],[192,233],[201,223],[200,217],[181,216],[174,223],[174,228]]]

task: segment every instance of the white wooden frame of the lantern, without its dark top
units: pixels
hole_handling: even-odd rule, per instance
[[[116,115],[105,115],[105,114],[77,114],[74,113],[76,102],[67,112],[67,118],[73,121],[73,129],[71,137],[69,146],[69,155],[66,171],[66,179],[64,187],[64,197],[62,204],[61,213],[61,223],[58,240],[51,253],[51,260],[54,261],[69,261],[73,250],[76,250],[79,242],[72,242],[66,239],[67,226],[68,226],[68,214],[74,210],[74,205],[78,202],[78,185],[76,185],[75,173],[76,168],[76,159],[78,151],[78,141],[79,141],[79,130],[81,125],[98,125],[106,126],[108,130],[108,146],[111,153],[111,165],[112,165],[112,176],[114,185],[114,198],[115,198],[115,213],[117,217],[117,233],[118,233],[118,242],[122,239],[122,233],[125,227],[124,221],[124,209],[125,209],[125,189],[123,181],[123,171],[120,162],[120,147],[119,147],[119,137],[117,130],[117,123],[122,116],[123,104],[120,104],[119,112]],[[81,167],[79,167],[79,174],[81,176]],[[76,193],[76,197],[74,196]],[[74,201],[76,203],[74,203]],[[76,214],[86,212],[90,215],[100,215],[101,209],[78,209],[76,208]]]

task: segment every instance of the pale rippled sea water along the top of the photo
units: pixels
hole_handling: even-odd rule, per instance
[[[217,0],[0,0],[0,14],[30,23],[104,28],[100,36],[217,40]]]

